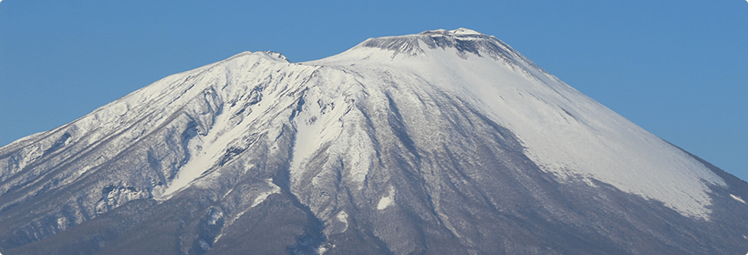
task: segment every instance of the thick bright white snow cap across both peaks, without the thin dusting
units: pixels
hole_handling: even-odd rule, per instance
[[[430,36],[498,42],[493,36],[464,28],[435,32]],[[203,110],[216,111],[212,126],[198,128],[199,134],[188,143],[189,160],[167,186],[153,190],[155,199],[169,199],[178,190],[205,177],[216,167],[225,149],[246,134],[264,132],[257,128],[280,132],[278,127],[288,117],[278,114],[299,100],[288,95],[294,91],[303,92],[304,110],[293,120],[297,133],[290,170],[292,184],[303,178],[309,169],[301,166],[322,146],[328,147],[328,153],[349,160],[346,165],[350,170],[343,178],[363,183],[373,164],[369,152],[375,148],[367,138],[367,130],[362,128],[366,117],[350,109],[354,107],[352,102],[362,101],[362,98],[370,102],[386,101],[380,94],[368,91],[391,89],[390,83],[381,80],[387,76],[408,89],[392,91],[403,97],[413,97],[413,101],[418,99],[414,91],[429,89],[462,98],[510,129],[525,146],[525,154],[560,179],[583,179],[593,186],[590,180],[597,179],[643,198],[659,200],[683,215],[708,219],[707,206],[711,204],[708,186],[725,184],[679,148],[547,74],[504,44],[496,46],[505,50],[508,60],[470,52],[458,54],[455,47],[430,48],[423,37],[384,37],[415,39],[422,50],[415,55],[393,55],[391,49],[363,46],[366,42],[337,56],[296,64],[274,53],[239,54],[163,78],[78,119],[72,128],[63,128],[69,128],[74,133],[73,138],[95,141],[124,127],[126,123],[120,123],[119,119],[138,119],[131,116],[136,114],[150,118],[151,121],[143,122],[149,123],[149,127],[140,127],[146,130],[161,125],[169,116],[154,115],[139,108],[174,112],[175,108],[184,106],[181,101],[205,97],[208,106]],[[193,82],[192,87],[181,86],[198,74],[208,75],[198,76],[202,80]],[[246,109],[241,108],[241,104],[229,104],[245,100],[258,84],[265,86],[259,103]],[[162,98],[176,99],[164,103]],[[223,106],[220,110],[216,108],[219,105]],[[236,119],[236,116],[243,118]],[[414,132],[440,132],[425,120],[409,124],[421,128]],[[133,131],[133,140],[138,138],[136,133]],[[68,142],[76,141],[71,138]],[[440,141],[417,138],[413,142],[418,148],[431,148]],[[81,168],[79,176],[87,169]],[[316,181],[317,177],[312,179],[313,183]],[[378,209],[394,204],[392,196],[388,195],[379,200]]]

